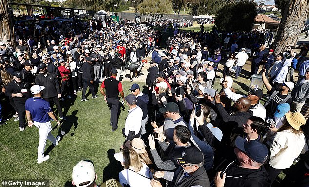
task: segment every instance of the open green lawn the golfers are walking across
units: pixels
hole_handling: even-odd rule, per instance
[[[123,83],[125,95],[129,94],[130,86],[130,82]],[[38,128],[33,126],[26,128],[24,132],[19,132],[19,123],[18,121],[14,122],[13,119],[8,121],[8,125],[1,126],[1,180],[49,179],[51,187],[63,187],[65,184],[70,184],[68,182],[72,179],[73,166],[82,159],[88,159],[94,162],[98,175],[97,182],[101,183],[103,181],[103,169],[110,163],[107,151],[114,149],[119,152],[124,141],[121,129],[124,127],[128,106],[124,111],[121,110],[119,127],[115,132],[112,132],[110,110],[103,96],[99,95],[99,98],[96,99],[91,99],[90,95],[88,96],[89,101],[81,102],[81,92],[78,92],[74,105],[69,108],[66,114],[68,120],[62,124],[63,130],[67,131],[66,135],[58,146],[50,151],[50,159],[41,164],[37,164]],[[69,102],[65,104],[68,105]],[[76,116],[72,116],[72,113],[76,113]],[[56,123],[52,122],[52,125],[54,127]],[[58,130],[59,127],[52,131],[52,134],[57,136]],[[52,143],[47,141],[45,150],[50,145]],[[113,150],[111,152],[113,153]],[[112,162],[115,166],[120,164],[115,163],[115,159]],[[115,167],[112,165],[108,167],[106,176],[111,174],[118,176],[119,170],[113,170]],[[120,171],[121,168],[120,166]]]

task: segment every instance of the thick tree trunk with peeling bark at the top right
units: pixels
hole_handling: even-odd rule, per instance
[[[295,46],[308,16],[309,0],[290,0],[282,14],[281,25],[272,44],[275,53],[285,46]]]

